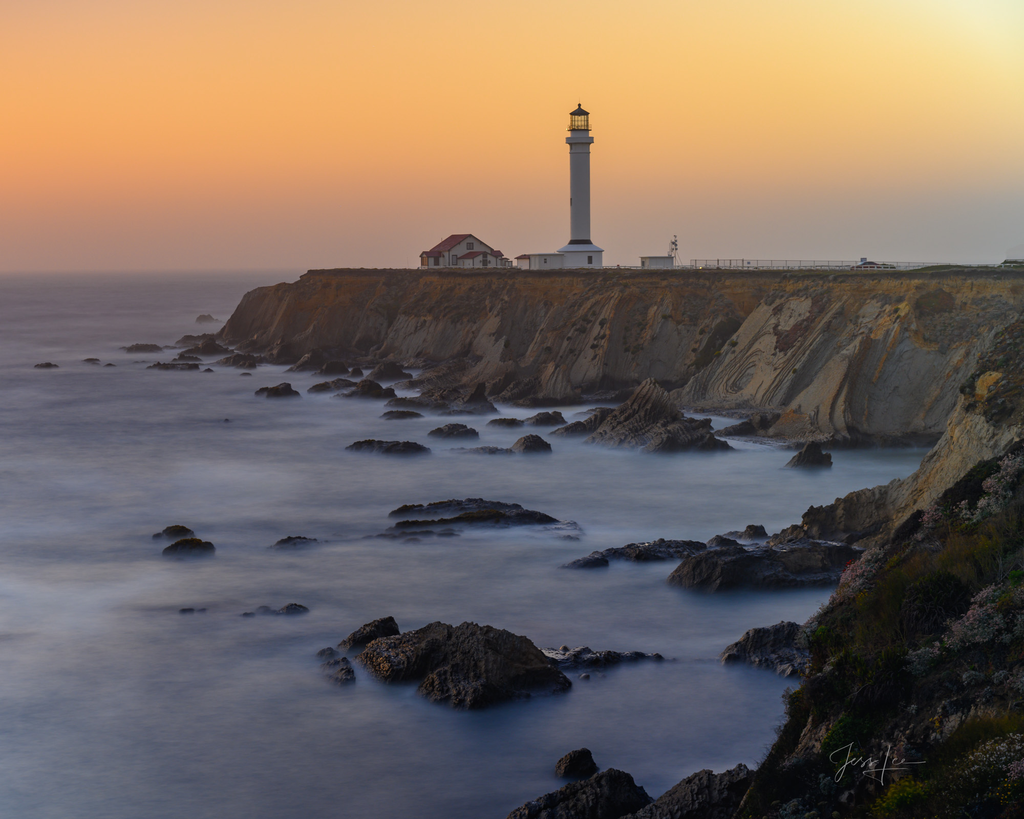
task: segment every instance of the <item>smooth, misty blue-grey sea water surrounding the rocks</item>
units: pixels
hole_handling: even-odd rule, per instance
[[[197,314],[225,318],[247,290],[295,276],[0,276],[0,813],[500,819],[558,787],[555,761],[583,745],[653,796],[700,768],[755,764],[786,682],[717,654],[754,626],[805,619],[828,590],[705,595],[666,585],[673,562],[559,564],[748,523],[777,531],[812,504],[909,474],[924,450],[838,450],[824,473],[783,470],[792,452],[756,445],[654,457],[552,437],[550,457],[466,456],[447,450],[474,443],[426,436],[466,419],[383,421],[382,402],[307,394],[310,374],[147,371],[174,353],[118,349],[204,332]],[[33,369],[43,360],[59,369]],[[253,395],[281,381],[302,398]],[[523,434],[485,421],[467,422],[481,444]],[[433,454],[344,451],[367,437]],[[584,534],[365,537],[400,504],[466,497]],[[216,557],[162,559],[151,535],[172,523]],[[267,548],[289,534],[322,543]],[[290,602],[311,611],[239,616]],[[358,666],[354,685],[327,684],[314,652],[388,614],[402,630],[474,620],[541,646],[676,659],[473,713]]]

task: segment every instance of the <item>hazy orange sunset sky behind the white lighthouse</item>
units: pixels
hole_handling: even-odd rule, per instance
[[[1020,0],[14,0],[0,269],[996,261],[1024,242]]]

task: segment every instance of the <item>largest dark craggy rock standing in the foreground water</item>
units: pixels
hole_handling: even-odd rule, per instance
[[[527,638],[475,622],[431,622],[382,637],[356,660],[386,682],[422,680],[420,694],[458,708],[557,693],[572,685]]]

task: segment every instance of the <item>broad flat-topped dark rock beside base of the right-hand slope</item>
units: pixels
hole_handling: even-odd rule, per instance
[[[669,584],[709,592],[828,586],[839,581],[846,564],[859,559],[862,551],[847,544],[810,540],[781,547],[723,546],[684,559],[669,575]]]

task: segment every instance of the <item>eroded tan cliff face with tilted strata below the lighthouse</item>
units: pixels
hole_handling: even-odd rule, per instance
[[[653,377],[708,410],[772,410],[759,434],[934,441],[1024,277],[723,271],[319,270],[246,294],[221,337],[446,361],[422,386],[568,403]]]

